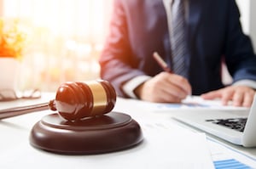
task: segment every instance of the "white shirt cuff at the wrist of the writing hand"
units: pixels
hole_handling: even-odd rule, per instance
[[[127,94],[132,99],[137,99],[134,90],[140,86],[143,82],[148,81],[148,79],[152,78],[151,76],[137,76],[132,78],[130,81],[125,82],[125,85],[122,87],[125,94]]]

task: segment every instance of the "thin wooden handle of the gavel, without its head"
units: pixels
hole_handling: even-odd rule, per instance
[[[33,105],[19,106],[15,108],[0,110],[0,120],[13,117],[16,115],[25,115],[27,113],[32,113],[32,112],[41,111],[41,110],[48,110],[48,109],[49,109],[49,103],[33,104]]]

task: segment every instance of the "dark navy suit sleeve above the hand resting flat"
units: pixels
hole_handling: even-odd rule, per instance
[[[240,13],[235,0],[230,0],[225,61],[234,82],[256,81],[256,56],[248,36],[241,29]]]

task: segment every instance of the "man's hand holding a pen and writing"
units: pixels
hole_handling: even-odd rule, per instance
[[[139,99],[159,103],[180,103],[191,94],[191,86],[183,76],[161,72],[136,88]]]

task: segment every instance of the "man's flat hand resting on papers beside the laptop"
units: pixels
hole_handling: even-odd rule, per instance
[[[254,94],[255,91],[251,87],[230,86],[204,93],[201,97],[203,99],[221,99],[224,105],[232,101],[234,106],[250,107],[253,104]]]

